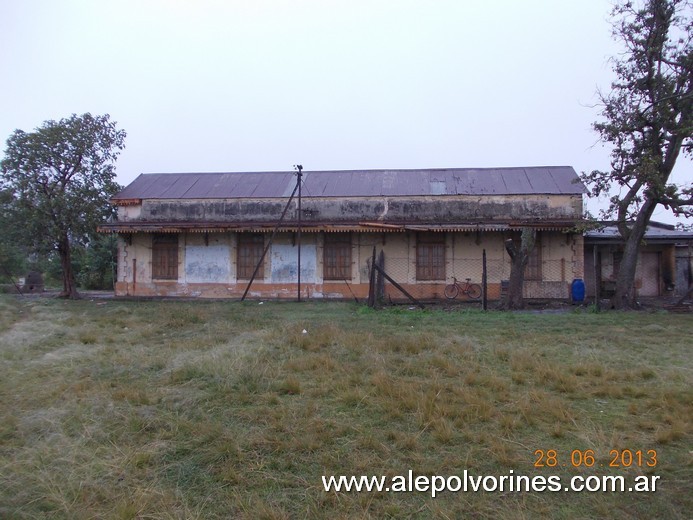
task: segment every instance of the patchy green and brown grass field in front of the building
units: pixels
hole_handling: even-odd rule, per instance
[[[691,338],[666,313],[2,296],[0,518],[690,518]],[[656,466],[609,467],[625,449]],[[660,480],[435,498],[321,480],[409,470]]]

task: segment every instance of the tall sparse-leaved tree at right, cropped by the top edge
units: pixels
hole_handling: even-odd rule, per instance
[[[594,124],[613,147],[611,169],[582,177],[591,196],[618,190],[602,216],[615,219],[624,240],[612,304],[628,308],[638,246],[657,205],[693,214],[693,188],[669,181],[679,156],[693,153],[693,4],[622,1],[612,16],[625,52],[613,59],[616,79],[599,94],[603,120]]]

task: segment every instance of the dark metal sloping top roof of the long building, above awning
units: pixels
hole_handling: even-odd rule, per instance
[[[306,197],[422,195],[581,195],[570,166],[422,170],[306,171]],[[294,172],[146,173],[115,197],[127,199],[285,198]]]

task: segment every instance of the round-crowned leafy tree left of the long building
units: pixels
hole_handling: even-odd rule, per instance
[[[108,114],[73,114],[34,132],[15,130],[0,163],[0,182],[12,191],[23,232],[35,251],[60,257],[63,295],[77,298],[72,245],[84,243],[111,213],[120,188],[115,160],[125,131]]]

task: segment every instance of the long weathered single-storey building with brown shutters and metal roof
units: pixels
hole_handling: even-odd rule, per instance
[[[272,237],[248,296],[295,298],[295,186],[293,172],[140,175],[113,197],[117,220],[99,228],[118,235],[116,295],[240,298]],[[528,226],[537,243],[525,297],[568,298],[584,278],[574,229],[585,188],[569,166],[308,171],[301,193],[302,298],[365,298],[375,248],[422,300],[444,299],[453,277],[480,282],[485,251],[488,297],[499,299],[505,240]]]

